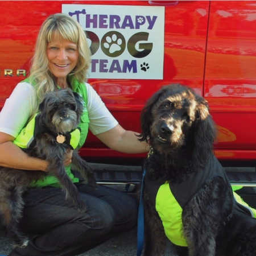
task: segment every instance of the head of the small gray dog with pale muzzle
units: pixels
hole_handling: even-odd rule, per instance
[[[47,93],[39,105],[46,126],[55,133],[68,133],[76,129],[82,109],[82,98],[71,89]]]

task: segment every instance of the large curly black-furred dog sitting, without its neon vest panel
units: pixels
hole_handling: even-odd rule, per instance
[[[144,255],[164,253],[166,236],[152,191],[166,181],[186,198],[181,218],[187,247],[175,246],[179,255],[256,255],[256,220],[234,200],[213,155],[216,130],[207,101],[187,86],[163,86],[148,100],[141,122],[140,140],[151,146],[144,164]]]

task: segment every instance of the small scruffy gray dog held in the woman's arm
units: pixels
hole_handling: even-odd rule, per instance
[[[30,146],[22,150],[30,156],[47,160],[48,172],[0,168],[0,214],[7,236],[13,238],[18,246],[24,247],[28,243],[18,223],[24,207],[22,194],[32,181],[43,179],[47,174],[57,177],[66,199],[71,199],[77,209],[85,209],[63,164],[67,150],[73,150],[70,144],[71,133],[77,129],[82,111],[82,98],[71,89],[47,93],[35,117],[34,139]],[[93,171],[76,150],[73,151],[72,164],[86,183],[93,186],[96,184]]]

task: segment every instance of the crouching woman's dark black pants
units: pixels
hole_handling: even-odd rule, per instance
[[[86,204],[84,212],[65,200],[60,188],[28,189],[20,227],[30,234],[30,242],[9,255],[77,255],[135,226],[133,197],[102,185],[94,189],[77,184],[77,188]]]

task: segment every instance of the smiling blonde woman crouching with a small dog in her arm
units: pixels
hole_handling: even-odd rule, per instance
[[[45,160],[28,156],[13,141],[38,111],[44,94],[67,87],[85,101],[79,147],[85,141],[89,122],[92,133],[113,150],[147,151],[147,144],[139,142],[133,131],[123,129],[85,82],[89,64],[89,47],[80,24],[65,14],[49,16],[39,31],[30,77],[15,87],[0,113],[0,166],[17,171],[46,171]],[[72,151],[69,151],[64,164],[75,180],[69,172],[71,158]],[[76,255],[135,225],[137,205],[133,198],[104,186],[94,190],[79,182],[75,184],[81,200],[85,201],[85,213],[68,204],[49,175],[28,189],[24,194],[26,205],[20,226],[31,239],[28,246],[11,251],[11,256]]]

